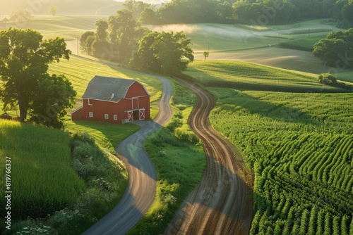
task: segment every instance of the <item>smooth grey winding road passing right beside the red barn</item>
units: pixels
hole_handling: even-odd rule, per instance
[[[85,231],[85,235],[126,234],[140,221],[155,200],[157,173],[143,148],[143,142],[172,115],[169,106],[172,85],[164,77],[150,76],[156,77],[163,84],[163,93],[158,104],[160,113],[153,121],[138,121],[136,124],[141,125],[141,129],[116,146],[116,152],[128,171],[128,186],[118,205]]]

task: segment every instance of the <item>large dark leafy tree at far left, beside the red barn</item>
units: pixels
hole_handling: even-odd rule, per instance
[[[3,82],[0,98],[5,110],[18,107],[21,122],[26,120],[28,112],[32,117],[62,118],[62,110],[71,107],[76,96],[68,80],[47,73],[50,63],[59,62],[61,58],[68,60],[71,51],[66,49],[64,39],[56,37],[43,41],[42,38],[35,30],[10,28],[0,32],[0,78]],[[60,115],[49,115],[49,110],[54,108]]]

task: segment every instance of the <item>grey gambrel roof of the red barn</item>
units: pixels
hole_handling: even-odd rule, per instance
[[[131,87],[133,82],[136,82],[136,80],[95,76],[88,83],[88,87],[82,98],[118,102],[124,99],[128,88]]]

